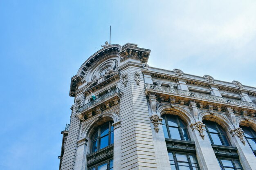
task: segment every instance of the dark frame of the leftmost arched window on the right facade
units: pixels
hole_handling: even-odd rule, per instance
[[[162,124],[162,126],[166,126],[166,130],[167,130],[167,133],[168,133],[168,138],[167,138],[167,139],[172,139],[172,138],[171,138],[170,129],[169,129],[169,127],[172,127],[172,128],[177,128],[177,129],[178,129],[178,132],[179,132],[180,138],[181,138],[181,139],[173,139],[173,140],[191,141],[191,138],[190,138],[190,136],[189,136],[189,131],[188,131],[188,128],[187,128],[187,124],[186,124],[186,122],[184,122],[179,116],[177,116],[177,115],[170,115],[170,114],[164,114],[164,115],[162,115],[161,117],[162,117],[163,120],[165,121],[165,124]],[[176,119],[176,121],[177,121],[178,127],[177,127],[177,126],[169,126],[169,125],[168,125],[167,117],[174,117],[174,118]],[[180,126],[180,121],[182,121],[182,123],[183,123],[186,127]],[[164,128],[164,127],[163,127],[163,128]],[[188,135],[188,137],[189,137],[189,140],[185,140],[184,135],[183,135],[183,133],[182,133],[182,129],[186,129],[186,133],[187,133],[187,135]]]

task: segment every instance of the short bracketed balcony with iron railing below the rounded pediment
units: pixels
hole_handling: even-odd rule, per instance
[[[84,121],[94,115],[98,114],[101,116],[103,110],[107,110],[112,106],[119,104],[120,90],[115,88],[108,93],[105,93],[95,100],[79,107],[77,116]]]

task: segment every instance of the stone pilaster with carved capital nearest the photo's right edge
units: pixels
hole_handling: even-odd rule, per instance
[[[243,135],[242,128],[230,130],[230,133],[233,137],[233,140],[231,141],[233,143],[232,146],[236,146],[238,150],[239,160],[243,169],[256,170],[256,157]]]

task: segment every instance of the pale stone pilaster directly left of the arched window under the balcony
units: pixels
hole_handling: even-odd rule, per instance
[[[76,161],[74,170],[87,170],[87,159],[86,159],[86,152],[87,152],[87,139],[82,139],[78,141],[78,146],[76,150]]]

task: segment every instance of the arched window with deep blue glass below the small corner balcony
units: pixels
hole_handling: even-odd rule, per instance
[[[109,121],[106,124],[103,124],[95,130],[92,135],[92,148],[91,152],[96,152],[102,148],[113,144],[114,142],[114,131],[111,122]]]

